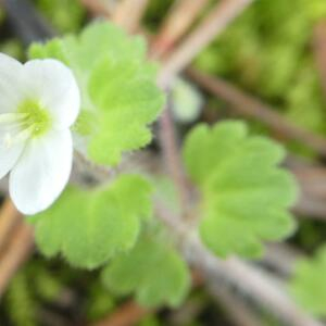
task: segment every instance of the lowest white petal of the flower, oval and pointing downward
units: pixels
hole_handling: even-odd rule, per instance
[[[51,205],[68,180],[72,162],[70,130],[30,139],[10,174],[9,191],[16,208],[30,215]]]

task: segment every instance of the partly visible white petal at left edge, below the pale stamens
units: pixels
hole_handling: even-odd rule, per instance
[[[4,142],[4,134],[0,131],[0,179],[15,165],[25,147],[23,141],[8,147]]]

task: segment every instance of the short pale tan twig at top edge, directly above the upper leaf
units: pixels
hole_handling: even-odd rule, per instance
[[[129,33],[139,29],[139,24],[149,0],[123,0],[117,5],[112,20]]]

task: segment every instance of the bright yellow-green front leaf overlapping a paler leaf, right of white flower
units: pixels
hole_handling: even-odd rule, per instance
[[[98,163],[116,163],[121,160],[121,149],[135,150],[150,142],[152,136],[147,125],[162,108],[161,92],[152,75],[151,70],[138,62],[126,65],[124,61],[104,59],[95,67],[89,91],[102,118],[89,154]],[[108,76],[115,77],[108,79]]]

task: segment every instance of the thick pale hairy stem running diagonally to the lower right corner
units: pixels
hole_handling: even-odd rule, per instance
[[[208,287],[216,281],[230,284],[289,326],[323,325],[302,312],[267,274],[236,258],[217,259],[201,243],[198,235],[189,231],[189,227],[166,208],[162,210],[158,205],[156,214],[178,236],[185,259],[202,273]],[[216,297],[218,299],[218,293]]]

